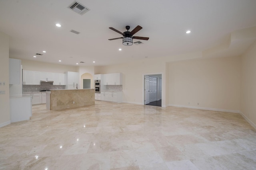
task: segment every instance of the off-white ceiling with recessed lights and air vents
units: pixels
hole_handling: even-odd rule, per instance
[[[232,31],[256,26],[256,0],[78,0],[90,9],[82,16],[67,8],[72,2],[1,0],[0,31],[10,35],[10,57],[110,65],[205,51],[228,41]],[[149,40],[132,46],[122,45],[122,39],[108,40],[122,37],[109,27],[124,32],[126,25],[130,31],[142,26],[134,36]],[[240,49],[233,46],[236,53],[225,51],[225,55],[240,54],[252,42],[242,43],[246,47]],[[36,53],[43,55],[34,58]]]

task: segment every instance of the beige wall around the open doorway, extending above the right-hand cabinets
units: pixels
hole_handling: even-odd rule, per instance
[[[162,106],[166,106],[166,63],[159,59],[146,59],[133,63],[95,67],[95,74],[122,73],[123,102],[144,104],[144,75],[162,74]]]

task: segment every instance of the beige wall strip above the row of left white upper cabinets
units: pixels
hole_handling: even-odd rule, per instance
[[[23,70],[64,73],[66,71],[76,72],[76,66],[62,64],[44,63],[32,60],[21,60]]]

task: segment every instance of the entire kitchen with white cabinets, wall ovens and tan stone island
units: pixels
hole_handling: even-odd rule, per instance
[[[19,59],[9,63],[11,122],[29,120],[33,105],[45,104],[46,109],[59,111],[93,105],[95,100],[122,102],[122,73],[92,75],[94,83],[83,89],[79,72],[25,70]]]

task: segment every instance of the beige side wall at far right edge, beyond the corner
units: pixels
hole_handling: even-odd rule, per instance
[[[240,111],[256,128],[256,41],[241,57]]]

